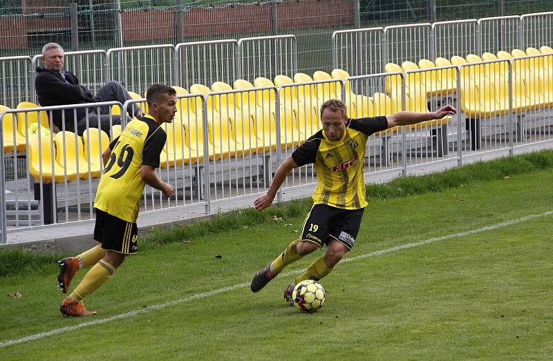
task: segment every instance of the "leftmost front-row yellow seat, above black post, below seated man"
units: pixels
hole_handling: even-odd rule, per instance
[[[28,148],[29,172],[36,182],[64,182],[77,179],[77,172],[74,169],[64,169],[52,158],[55,146],[50,141],[50,137],[30,135]]]

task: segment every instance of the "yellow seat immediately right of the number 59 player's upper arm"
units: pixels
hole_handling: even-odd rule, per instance
[[[167,133],[167,142],[160,154],[162,168],[180,166],[203,162],[203,148],[198,152],[188,148],[185,143],[185,129],[180,121],[180,115],[176,114],[172,123],[162,125]]]

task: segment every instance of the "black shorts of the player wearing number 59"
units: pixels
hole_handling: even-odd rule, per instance
[[[94,226],[94,240],[109,249],[125,255],[136,253],[138,246],[138,229],[136,223],[126,222],[98,208]]]

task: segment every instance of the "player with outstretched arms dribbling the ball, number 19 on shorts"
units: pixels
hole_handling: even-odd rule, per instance
[[[434,113],[399,112],[386,117],[348,119],[344,103],[337,99],[325,101],[321,106],[323,128],[285,159],[274,174],[267,193],[254,202],[258,211],[267,208],[293,168],[315,164],[318,185],[301,236],[254,275],[252,291],[261,290],[285,266],[326,244],[324,255],[285,289],[285,300],[292,302],[295,284],[303,280],[318,281],[325,277],[351,250],[367,205],[363,167],[369,135],[393,126],[441,119],[456,112],[455,108],[448,105]]]

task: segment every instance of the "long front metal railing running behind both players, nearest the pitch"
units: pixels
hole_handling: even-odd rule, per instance
[[[553,84],[549,77],[552,58],[553,55],[534,55],[344,80],[180,95],[178,121],[164,128],[173,140],[168,137],[165,159],[162,157],[165,165],[158,170],[162,179],[180,191],[174,198],[165,200],[158,191],[147,190],[141,211],[205,204],[206,212],[210,212],[212,202],[266,191],[281,160],[319,128],[313,119],[313,112],[319,118],[319,103],[334,97],[345,101],[350,112],[355,109],[355,117],[391,115],[399,110],[433,111],[444,104],[458,105],[458,115],[447,121],[428,121],[420,126],[404,126],[371,135],[365,159],[368,173],[397,169],[405,172],[418,164],[451,159],[461,164],[467,156],[505,149],[512,152],[516,146],[550,141],[553,138]],[[436,80],[446,77],[445,86],[434,83],[433,76]],[[456,90],[453,90],[453,81]],[[55,110],[71,110],[76,114],[80,108],[110,105],[125,114],[126,108],[143,101],[133,99],[123,106],[109,102],[6,110],[0,115],[0,123],[3,126],[8,114],[23,114],[19,119],[27,119],[24,129],[28,129],[33,115],[37,116],[37,124],[41,124],[44,111],[48,123],[37,126],[36,132],[41,134],[46,126],[53,127],[51,119]],[[17,118],[10,119],[12,126],[17,126],[13,124]],[[88,118],[93,121],[93,116]],[[122,120],[124,123],[126,118]],[[84,137],[90,137],[93,128],[96,127],[85,131]],[[111,126],[110,130],[113,139],[115,129]],[[19,179],[16,172],[14,181],[2,179],[1,182],[3,242],[7,232],[50,223],[45,220],[47,214],[52,215],[52,223],[88,222],[93,218],[93,196],[102,165],[93,169],[86,157],[86,164],[83,163],[77,135],[64,137],[68,133],[60,132],[38,137],[29,132],[24,135],[24,152],[5,152],[3,138],[0,143],[2,158],[24,156],[28,160],[26,177]],[[247,142],[247,137],[253,142]],[[33,139],[37,142],[32,143]],[[46,148],[42,148],[43,139],[47,142]],[[35,144],[39,147],[36,153]],[[99,149],[103,147],[101,143]],[[92,149],[82,147],[87,154]],[[192,150],[196,150],[196,157]],[[35,155],[50,157],[44,162],[35,162]],[[205,155],[203,159],[202,155]],[[33,168],[36,164],[38,168]],[[6,174],[4,164],[2,170]],[[294,170],[283,188],[314,182],[315,170],[309,165]],[[10,210],[15,212],[8,215],[8,206],[15,206],[15,210]],[[33,218],[37,213],[38,221]]]

